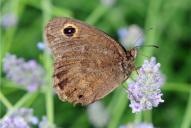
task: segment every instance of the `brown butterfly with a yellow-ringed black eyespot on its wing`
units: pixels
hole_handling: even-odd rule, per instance
[[[55,18],[45,34],[54,56],[54,88],[63,101],[99,100],[135,69],[136,49],[126,51],[104,32],[71,18]]]

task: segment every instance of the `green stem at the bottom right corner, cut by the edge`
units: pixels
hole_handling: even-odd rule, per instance
[[[186,107],[181,128],[190,128],[190,126],[191,126],[191,89],[188,98],[188,105]]]

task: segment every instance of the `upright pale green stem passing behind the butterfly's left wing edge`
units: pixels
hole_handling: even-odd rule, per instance
[[[43,28],[47,24],[48,20],[51,18],[51,1],[50,0],[42,0],[41,3],[43,10]],[[45,50],[44,51],[44,67],[46,69],[46,81],[47,81],[47,91],[45,92],[46,99],[46,110],[47,110],[47,118],[50,123],[54,122],[54,102],[53,102],[53,94],[52,94],[52,59],[50,54]]]

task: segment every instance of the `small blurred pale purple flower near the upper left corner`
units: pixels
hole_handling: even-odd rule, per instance
[[[5,28],[14,27],[17,24],[17,16],[14,13],[7,13],[2,16],[1,25]]]

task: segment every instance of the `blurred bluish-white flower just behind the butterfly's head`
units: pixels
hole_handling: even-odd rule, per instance
[[[124,48],[140,46],[144,41],[143,30],[137,25],[131,25],[128,28],[120,28],[118,31],[120,43]]]

